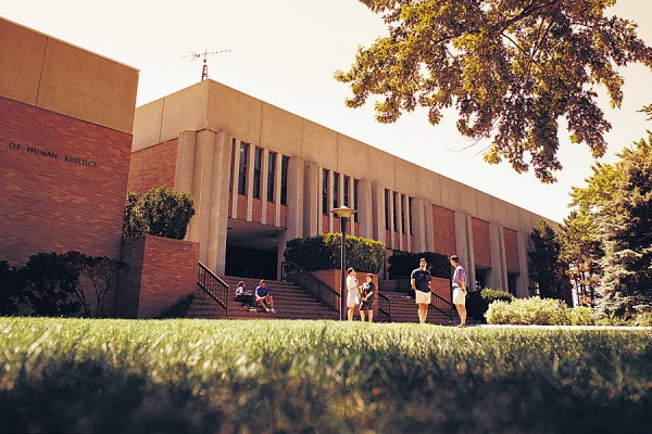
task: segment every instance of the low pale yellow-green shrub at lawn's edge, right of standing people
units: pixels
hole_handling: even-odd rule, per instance
[[[515,298],[512,303],[494,302],[487,310],[490,324],[590,326],[593,311],[587,307],[569,309],[552,298]]]

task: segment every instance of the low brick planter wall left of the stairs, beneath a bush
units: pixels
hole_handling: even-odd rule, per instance
[[[116,315],[152,318],[195,292],[199,243],[160,237],[123,241],[129,270],[120,280]]]

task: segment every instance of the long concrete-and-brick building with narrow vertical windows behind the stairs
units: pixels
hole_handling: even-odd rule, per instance
[[[457,254],[477,285],[527,296],[540,216],[213,80],[136,110],[128,190],[191,192],[187,238],[218,275],[277,276],[287,241],[338,232]]]

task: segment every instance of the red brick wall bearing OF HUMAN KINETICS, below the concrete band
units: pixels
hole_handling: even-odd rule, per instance
[[[117,258],[131,136],[0,98],[0,260]]]

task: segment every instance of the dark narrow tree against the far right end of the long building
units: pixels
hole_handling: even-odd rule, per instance
[[[543,298],[562,298],[566,303],[569,296],[570,283],[560,259],[561,242],[552,227],[539,219],[530,240],[535,250],[528,253],[530,277],[539,283],[539,293]],[[568,303],[570,304],[570,303]]]

